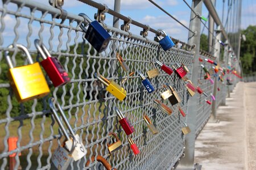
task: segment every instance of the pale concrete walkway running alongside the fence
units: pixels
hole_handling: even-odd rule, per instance
[[[256,169],[256,82],[238,83],[219,123],[208,122],[196,139],[195,163],[202,169]]]

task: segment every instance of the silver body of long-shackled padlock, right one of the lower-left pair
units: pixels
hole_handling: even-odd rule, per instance
[[[66,147],[68,148],[68,150],[72,150],[72,142],[71,140],[65,142]],[[75,149],[72,152],[72,156],[74,158],[75,161],[81,159],[82,157],[84,157],[86,155],[85,152],[85,147],[84,145],[82,145],[82,141],[81,138],[79,137],[78,134],[75,135]]]

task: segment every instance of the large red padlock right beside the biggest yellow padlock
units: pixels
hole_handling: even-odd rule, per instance
[[[53,86],[59,87],[68,83],[70,81],[68,73],[63,69],[57,57],[52,57],[43,43],[40,46],[38,39],[35,39],[34,44],[40,56],[43,58],[43,61],[40,63],[48,74],[49,79],[51,79]]]

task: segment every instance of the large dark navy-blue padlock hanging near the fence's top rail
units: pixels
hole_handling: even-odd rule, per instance
[[[97,22],[97,20],[90,20],[90,18],[80,13],[80,16],[85,18],[85,25],[89,23],[89,27],[86,30],[85,25],[80,25],[80,28],[86,32],[85,39],[93,46],[94,49],[97,50],[97,52],[101,53],[103,52],[110,41],[111,36],[109,33]]]

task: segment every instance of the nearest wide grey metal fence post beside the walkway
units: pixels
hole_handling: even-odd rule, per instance
[[[201,0],[193,0],[192,1],[192,9],[199,15],[202,12],[202,4]],[[194,56],[194,62],[192,65],[192,76],[191,80],[197,87],[198,80],[198,71],[199,71],[199,50],[200,50],[200,30],[201,30],[201,21],[193,11],[191,11],[191,19],[189,23],[189,29],[196,32],[189,32],[188,35],[188,44],[195,45],[195,48],[192,49]],[[178,169],[194,169],[194,159],[195,159],[195,139],[196,139],[196,114],[197,114],[197,97],[190,97],[188,100],[188,109],[187,109],[187,124],[191,129],[191,133],[185,136],[185,157],[181,159]]]

